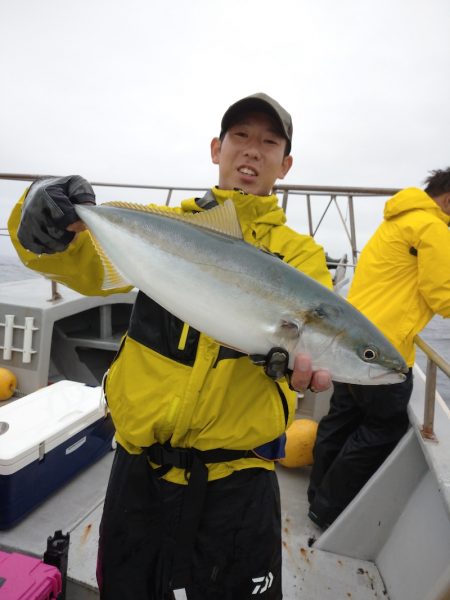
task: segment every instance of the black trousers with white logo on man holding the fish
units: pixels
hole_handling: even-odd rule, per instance
[[[159,479],[120,446],[105,499],[97,566],[102,600],[169,600],[187,486]],[[244,469],[209,482],[185,590],[189,600],[280,600],[276,474]]]

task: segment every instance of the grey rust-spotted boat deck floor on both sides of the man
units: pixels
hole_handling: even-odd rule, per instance
[[[98,598],[97,532],[112,463],[111,452],[78,475],[16,527],[0,532],[0,547],[42,557],[47,538],[70,532],[67,600]],[[309,469],[278,468],[282,498],[284,597],[288,600],[387,599],[371,562],[314,549],[320,530],[307,517]],[[176,592],[177,600],[185,598]]]

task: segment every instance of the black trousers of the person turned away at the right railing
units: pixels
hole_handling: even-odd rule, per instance
[[[330,525],[406,433],[412,370],[401,383],[334,383],[330,410],[320,423],[308,488],[310,516]]]

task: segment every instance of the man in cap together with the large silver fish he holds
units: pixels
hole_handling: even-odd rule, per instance
[[[30,268],[83,294],[140,290],[105,384],[118,448],[103,599],[179,588],[190,600],[282,598],[274,461],[295,390],[327,389],[330,371],[404,378],[398,353],[330,291],[323,249],[285,224],[272,187],[292,165],[291,142],[287,111],[254,94],[222,118],[211,143],[219,185],[203,198],[95,207],[71,176],[37,181],[11,215]]]

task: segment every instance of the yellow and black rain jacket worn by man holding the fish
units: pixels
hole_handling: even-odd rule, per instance
[[[227,198],[233,200],[248,243],[279,254],[332,287],[323,249],[310,236],[285,225],[286,217],[275,195],[256,197],[217,188],[212,194],[220,204]],[[38,256],[25,250],[17,239],[23,199],[13,210],[9,229],[26,266],[51,274],[52,279],[86,295],[127,291],[101,290],[102,266],[88,232],[79,234],[58,254]],[[180,208],[167,210],[198,211],[198,200],[186,200]],[[142,292],[110,367],[106,395],[117,441],[130,453],[169,439],[173,447],[250,450],[285,431],[293,419],[296,400],[285,380],[272,381],[248,356],[221,347]],[[209,479],[255,466],[274,468],[273,461],[242,458],[209,465]],[[176,468],[165,478],[186,483],[184,472]]]

